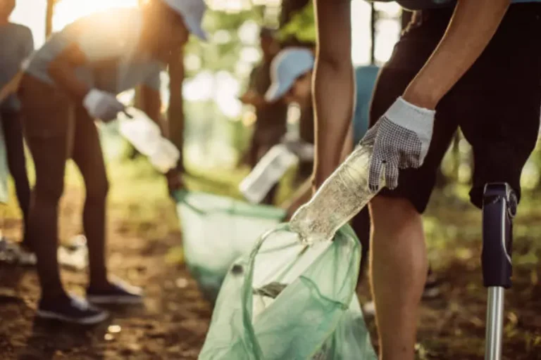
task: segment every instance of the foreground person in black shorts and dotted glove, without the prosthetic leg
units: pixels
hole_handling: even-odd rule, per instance
[[[370,203],[371,284],[383,360],[414,358],[428,267],[421,214],[454,133],[460,127],[473,146],[474,205],[482,206],[485,184],[492,182],[508,183],[520,198],[541,103],[540,0],[398,3],[416,13],[378,76],[371,129],[362,140],[373,146],[371,188],[379,188],[380,176],[387,187]],[[317,189],[340,164],[335,145],[347,134],[354,79],[350,1],[315,4]]]

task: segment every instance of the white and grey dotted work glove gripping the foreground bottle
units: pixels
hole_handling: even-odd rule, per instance
[[[428,153],[434,126],[434,110],[418,108],[397,98],[387,113],[368,130],[361,144],[373,146],[368,175],[372,191],[380,187],[385,169],[385,186],[398,186],[399,169],[421,167]]]

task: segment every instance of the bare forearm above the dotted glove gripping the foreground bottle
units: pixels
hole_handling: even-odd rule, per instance
[[[471,68],[495,34],[511,0],[459,0],[447,32],[404,92],[404,100],[434,109]]]

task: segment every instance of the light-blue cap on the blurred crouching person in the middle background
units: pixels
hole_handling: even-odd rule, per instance
[[[295,80],[313,69],[314,58],[309,49],[287,48],[270,64],[271,84],[265,94],[266,101],[273,102],[290,91]]]

